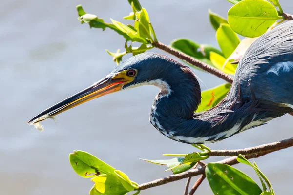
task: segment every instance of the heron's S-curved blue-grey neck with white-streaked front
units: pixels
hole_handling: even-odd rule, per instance
[[[145,83],[161,88],[151,108],[150,122],[163,135],[190,144],[211,143],[265,122],[252,124],[261,117],[251,110],[255,102],[243,103],[237,97],[195,115],[201,100],[199,83],[187,67],[174,64],[172,68],[177,74],[162,74]]]

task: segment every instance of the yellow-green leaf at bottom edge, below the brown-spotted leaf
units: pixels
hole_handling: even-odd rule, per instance
[[[118,177],[102,174],[91,179],[95,182],[95,188],[106,195],[121,195],[129,192],[124,188]]]

